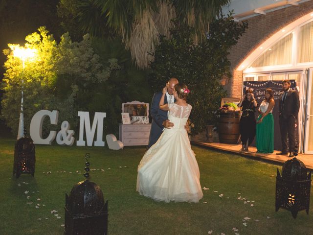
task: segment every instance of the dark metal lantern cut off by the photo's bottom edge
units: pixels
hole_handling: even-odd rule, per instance
[[[86,172],[89,178],[89,153]],[[65,235],[107,235],[108,201],[104,202],[101,188],[88,179],[77,183],[69,196],[65,195]]]

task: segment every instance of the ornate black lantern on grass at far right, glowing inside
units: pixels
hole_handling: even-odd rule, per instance
[[[306,166],[296,158],[285,162],[282,176],[277,169],[276,177],[276,211],[279,208],[291,211],[293,218],[298,211],[306,210],[309,214],[311,171],[308,174]]]

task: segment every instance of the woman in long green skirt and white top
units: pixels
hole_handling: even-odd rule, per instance
[[[274,94],[271,89],[265,91],[265,99],[259,108],[259,117],[256,125],[256,148],[258,153],[274,152]]]

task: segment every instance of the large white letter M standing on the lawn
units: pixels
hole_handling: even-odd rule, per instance
[[[90,128],[89,112],[78,111],[78,116],[80,117],[79,140],[76,142],[76,145],[85,146],[85,141],[84,141],[84,123],[85,123],[87,146],[92,146],[92,141],[93,141],[94,133],[96,131],[96,126],[97,126],[97,140],[94,141],[94,146],[104,146],[104,141],[102,141],[103,118],[105,118],[107,114],[95,112],[91,128]]]

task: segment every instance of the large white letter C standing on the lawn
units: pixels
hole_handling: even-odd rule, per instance
[[[49,136],[46,139],[43,139],[42,129],[45,117],[50,118],[50,123],[52,125],[57,125],[59,111],[53,110],[51,112],[49,110],[40,110],[33,116],[33,118],[31,118],[29,134],[34,143],[51,144],[57,134],[56,131],[50,131]]]

